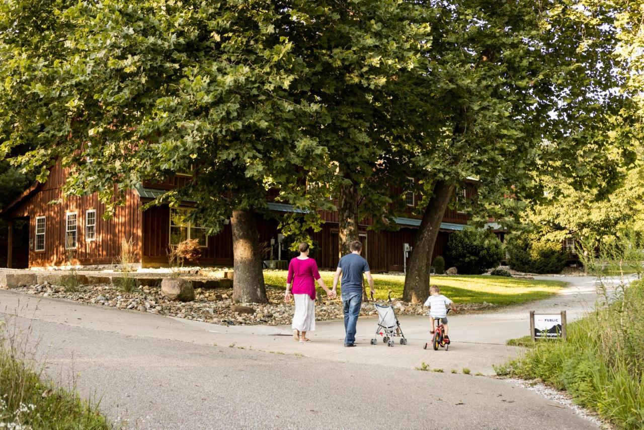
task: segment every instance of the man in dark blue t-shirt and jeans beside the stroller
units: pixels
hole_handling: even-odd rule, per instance
[[[369,282],[371,295],[375,293],[374,278],[369,264],[360,256],[362,244],[357,240],[351,242],[351,253],[337,263],[336,276],[333,278],[333,293],[336,293],[337,280],[342,275],[342,303],[345,310],[345,346],[355,346],[355,324],[358,322],[363,294],[363,273]]]

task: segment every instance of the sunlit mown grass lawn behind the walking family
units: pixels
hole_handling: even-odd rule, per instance
[[[322,279],[331,288],[334,272],[320,272]],[[286,271],[265,271],[264,280],[267,286],[285,288]],[[386,299],[388,291],[393,297],[403,297],[403,275],[374,275],[376,298]],[[488,302],[497,306],[506,306],[540,300],[554,295],[566,282],[558,280],[514,279],[508,277],[460,275],[433,276],[431,285],[440,287],[442,294],[451,298],[457,305],[465,303]],[[321,288],[318,293],[324,294]]]

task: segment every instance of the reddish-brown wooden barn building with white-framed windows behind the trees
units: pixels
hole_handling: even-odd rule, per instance
[[[163,183],[146,183],[127,193],[126,204],[117,208],[114,216],[104,220],[104,205],[96,194],[63,199],[61,187],[68,171],[55,165],[43,184],[35,184],[24,191],[0,215],[8,222],[6,247],[3,246],[5,265],[13,268],[48,268],[54,266],[111,266],[118,263],[122,239],[131,240],[135,264],[139,267],[167,266],[172,246],[187,238],[199,239],[202,244],[200,266],[228,266],[232,261],[231,227],[225,226],[214,236],[207,236],[207,229],[200,224],[184,222],[183,208],[167,205],[142,210],[146,202],[164,191],[189,181],[189,175],[176,175]],[[473,186],[462,188],[459,195],[468,198],[475,192]],[[406,193],[410,208],[417,204],[418,196]],[[51,202],[57,201],[52,204]],[[273,211],[290,211],[287,204],[272,202]],[[321,213],[325,223],[312,237],[317,242],[316,260],[321,268],[336,268],[338,255],[338,219],[336,211]],[[442,255],[451,232],[462,230],[468,221],[465,213],[448,209],[440,226],[433,256]],[[397,231],[370,231],[369,220],[359,225],[364,245],[363,255],[372,271],[403,271],[404,246],[413,246],[421,220],[411,214],[396,219],[401,227]],[[278,245],[278,222],[258,215],[260,241]],[[278,251],[274,253],[277,257]],[[268,257],[267,257],[268,258]],[[70,260],[71,259],[71,260]],[[1,260],[0,260],[1,262]]]

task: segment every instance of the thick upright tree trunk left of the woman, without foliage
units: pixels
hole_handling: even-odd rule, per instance
[[[232,300],[242,303],[267,303],[261,267],[257,222],[251,211],[232,211]]]

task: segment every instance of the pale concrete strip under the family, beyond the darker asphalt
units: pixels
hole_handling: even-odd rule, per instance
[[[551,279],[544,277],[544,279]],[[303,355],[339,362],[355,362],[383,366],[414,368],[422,362],[432,368],[494,375],[493,365],[503,364],[522,350],[506,346],[509,338],[529,333],[529,311],[565,310],[569,320],[579,318],[592,308],[597,296],[591,277],[561,278],[571,282],[560,294],[533,304],[524,304],[500,311],[469,315],[450,315],[450,351],[423,349],[429,341],[428,317],[401,317],[407,345],[387,347],[381,342],[372,346],[377,319],[359,318],[355,348],[343,346],[342,320],[317,322],[310,333],[313,342],[294,342],[289,326],[218,326],[205,322],[169,318],[150,313],[122,311],[50,298],[37,298],[0,290],[0,311],[48,322],[67,324],[129,336],[180,340],[195,344],[231,346],[258,351]]]

